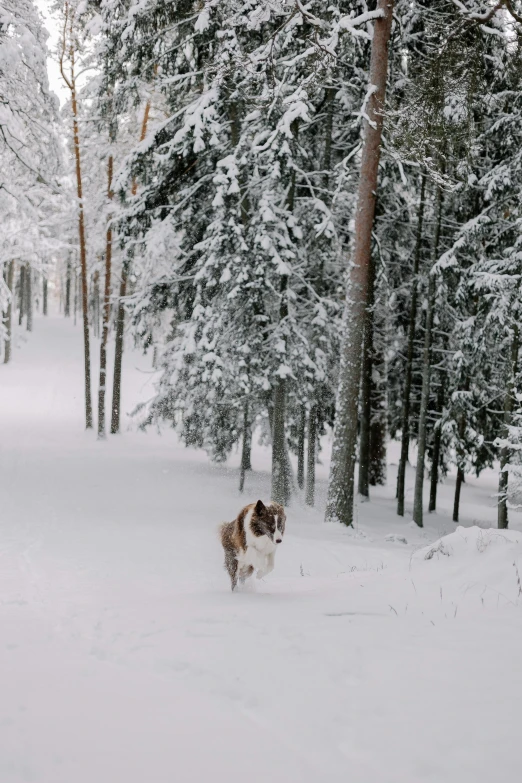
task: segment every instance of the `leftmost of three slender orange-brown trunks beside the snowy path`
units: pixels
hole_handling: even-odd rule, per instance
[[[78,102],[76,96],[75,73],[75,43],[74,43],[74,11],[70,4],[64,6],[65,20],[63,29],[63,45],[60,58],[60,70],[63,80],[71,93],[71,109],[73,120],[73,146],[76,168],[76,194],[78,197],[78,237],[80,242],[80,267],[82,280],[82,315],[83,315],[83,355],[84,355],[84,380],[85,380],[85,427],[91,429],[92,424],[92,397],[91,397],[91,355],[89,341],[89,292],[87,285],[87,244],[85,239],[85,214],[83,208],[82,163],[80,151],[80,131],[78,127]],[[67,45],[67,34],[69,41]],[[64,58],[68,50],[70,74],[66,76]]]

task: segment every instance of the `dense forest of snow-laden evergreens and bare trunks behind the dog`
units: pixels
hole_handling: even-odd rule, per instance
[[[100,438],[120,430],[134,344],[157,374],[136,425],[167,422],[217,462],[239,448],[240,489],[259,438],[273,499],[313,505],[328,434],[326,518],[351,525],[392,439],[397,514],[415,448],[417,525],[449,470],[457,522],[466,476],[494,467],[507,527],[522,493],[522,2],[50,5],[61,109],[35,2],[0,0],[2,361],[52,297],[82,324]]]

